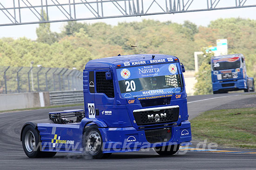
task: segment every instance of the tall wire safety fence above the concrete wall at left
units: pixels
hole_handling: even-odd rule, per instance
[[[82,90],[82,76],[76,69],[0,66],[0,94]]]

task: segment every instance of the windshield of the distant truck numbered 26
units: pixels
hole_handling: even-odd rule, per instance
[[[240,68],[240,57],[225,57],[212,60],[213,70]]]

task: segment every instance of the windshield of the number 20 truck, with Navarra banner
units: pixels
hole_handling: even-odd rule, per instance
[[[116,69],[122,97],[144,97],[182,91],[176,63]]]

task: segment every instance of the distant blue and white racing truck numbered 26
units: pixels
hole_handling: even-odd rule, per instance
[[[213,94],[228,93],[228,91],[254,91],[254,79],[246,74],[243,54],[232,54],[212,57],[211,77]]]

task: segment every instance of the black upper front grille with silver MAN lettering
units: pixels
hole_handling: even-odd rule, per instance
[[[154,108],[155,109],[155,108]],[[143,110],[143,109],[141,109]],[[160,110],[134,111],[133,115],[138,126],[171,123],[178,121],[179,107],[164,108]]]

